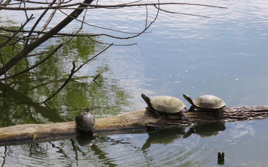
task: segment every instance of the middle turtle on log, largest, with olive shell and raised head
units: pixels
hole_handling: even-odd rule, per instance
[[[186,114],[182,111],[186,109],[185,104],[180,99],[170,96],[156,96],[150,99],[144,94],[141,94],[141,97],[148,105],[146,109],[154,112],[157,118],[160,117],[159,114],[162,114],[167,115],[168,119],[172,118],[172,116],[180,117],[181,120],[187,119]]]

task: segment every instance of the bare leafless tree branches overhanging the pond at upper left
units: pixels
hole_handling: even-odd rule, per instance
[[[162,5],[161,7],[163,7],[163,5],[195,5],[195,6],[199,6],[199,7],[226,8],[226,7],[220,7],[220,6],[205,5],[205,4],[194,4],[194,3],[175,3],[175,2],[160,3],[159,0],[158,0],[158,3],[140,3],[140,1],[142,1],[142,0],[133,0],[133,2],[129,2],[129,3],[110,4],[110,5],[109,4],[99,5],[98,0],[96,1],[96,5],[91,4],[93,2],[93,0],[84,0],[83,2],[70,3],[70,4],[68,2],[71,2],[72,0],[68,0],[68,1],[58,0],[57,3],[56,3],[56,0],[49,0],[50,2],[48,2],[48,0],[43,1],[43,2],[38,2],[38,1],[33,1],[33,0],[32,1],[30,1],[30,0],[14,0],[14,1],[16,1],[16,2],[10,3],[11,0],[6,0],[3,3],[3,0],[0,0],[0,10],[23,10],[25,12],[25,17],[27,18],[27,21],[24,24],[22,24],[17,30],[14,30],[15,28],[12,28],[12,27],[9,27],[9,29],[4,28],[3,26],[0,27],[0,30],[4,31],[3,34],[0,34],[0,39],[1,40],[3,39],[2,40],[3,42],[0,43],[0,57],[1,57],[1,62],[2,62],[2,67],[0,68],[0,76],[4,74],[4,77],[0,78],[0,81],[5,81],[5,84],[7,84],[7,79],[13,78],[13,77],[18,76],[18,75],[21,75],[21,74],[23,74],[25,72],[28,72],[29,70],[34,69],[35,67],[38,67],[40,64],[42,64],[43,62],[48,60],[55,52],[57,52],[57,50],[59,48],[61,48],[65,44],[67,44],[74,37],[78,37],[78,36],[79,37],[88,37],[90,40],[92,40],[94,42],[97,42],[97,43],[101,43],[101,44],[107,44],[107,43],[100,42],[100,41],[92,39],[90,37],[92,37],[92,36],[107,36],[107,37],[116,38],[116,39],[135,38],[135,37],[137,37],[137,36],[139,36],[141,34],[150,33],[150,32],[147,32],[147,30],[149,29],[149,27],[157,19],[160,10],[163,11],[163,12],[166,12],[166,13],[176,13],[176,14],[182,14],[182,15],[209,18],[207,16],[196,15],[196,14],[192,14],[192,13],[183,13],[183,12],[179,13],[179,12],[172,12],[172,11],[169,11],[169,10],[164,10],[164,9],[160,8],[160,5]],[[28,6],[30,6],[30,7],[28,7]],[[34,7],[32,7],[32,6],[34,6]],[[77,19],[78,16],[82,13],[82,11],[84,9],[86,9],[86,10],[91,9],[91,11],[92,11],[93,9],[99,9],[99,8],[118,9],[118,8],[123,8],[123,7],[141,7],[141,6],[146,7],[146,19],[145,19],[145,27],[139,33],[131,33],[131,32],[119,31],[119,30],[115,30],[115,29],[111,29],[111,28],[105,28],[105,27],[100,27],[100,26],[96,26],[96,25],[93,25],[93,24],[89,24],[89,23],[86,23],[84,21],[85,20],[85,15],[84,15],[82,21],[80,19]],[[155,7],[157,9],[157,13],[155,15],[155,18],[150,23],[148,22],[148,8],[147,8],[148,6],[152,6],[152,7]],[[48,20],[46,21],[46,23],[43,25],[43,27],[41,28],[40,31],[36,31],[35,29],[38,26],[38,24],[43,21],[45,14],[48,12],[48,10],[51,10],[51,9],[54,10],[54,11],[52,11],[52,13],[51,13],[50,17],[48,18]],[[66,9],[67,10],[72,9],[73,11],[70,14],[67,14],[64,11]],[[33,15],[31,15],[28,18],[27,12],[29,13],[29,10],[42,10],[42,13],[40,11],[41,15],[39,16],[37,21],[35,21],[33,23],[33,25],[31,26],[30,30],[24,30],[24,27],[26,27],[25,25],[28,24],[29,21],[33,18]],[[60,10],[60,12],[62,12],[63,14],[66,15],[66,18],[64,18],[62,21],[60,21],[56,26],[52,27],[50,30],[44,31],[48,27],[48,25],[49,25],[50,21],[52,20],[56,10]],[[76,33],[73,33],[73,34],[71,34],[71,33],[59,33],[60,30],[62,30],[64,27],[66,27],[73,20],[77,20],[77,21],[81,22],[81,27],[80,27],[79,30],[77,30]],[[43,21],[43,22],[45,22],[45,21]],[[80,32],[80,30],[82,29],[82,26],[84,24],[86,24],[88,26],[97,27],[99,29],[109,30],[109,32],[110,31],[115,31],[115,32],[131,34],[131,35],[130,36],[121,36],[121,35],[120,36],[119,35],[114,36],[114,35],[105,34],[105,33],[100,33],[100,34],[90,34],[90,33],[88,33],[88,34],[78,34]],[[40,35],[40,34],[42,34],[42,35]],[[65,42],[60,43],[56,48],[46,50],[46,51],[37,52],[37,53],[31,53],[37,47],[39,47],[41,44],[43,44],[44,42],[48,41],[49,39],[51,39],[51,38],[59,38],[59,37],[71,37],[71,38],[68,38]],[[11,54],[8,55],[1,48],[2,47],[9,47],[10,45],[13,46],[13,50],[11,51]],[[21,45],[22,46],[21,48],[23,48],[23,49],[19,50],[18,45]],[[112,45],[114,45],[114,46],[137,45],[138,46],[137,43],[135,43],[135,44],[121,44],[121,45],[112,43],[112,44],[107,44],[107,45],[109,45],[109,46],[107,48],[105,48],[104,50],[102,50],[102,52],[107,50]],[[141,50],[141,48],[140,48],[140,50]],[[100,55],[102,52],[99,52],[97,55],[95,55],[94,57],[90,58],[85,63],[81,64],[77,69],[75,69],[76,68],[75,67],[75,62],[73,61],[72,62],[73,68],[71,69],[71,73],[68,76],[67,80],[64,79],[63,81],[65,81],[65,82],[63,83],[63,85],[57,90],[57,92],[55,92],[48,99],[46,99],[44,101],[44,103],[47,102],[49,99],[51,99],[58,92],[60,92],[66,86],[66,84],[68,84],[68,82],[72,79],[73,75],[78,70],[80,70],[86,63],[88,63],[89,61],[91,61],[94,58],[96,58],[96,56]],[[142,55],[143,55],[142,50],[141,50],[141,52],[142,52]],[[13,55],[12,55],[12,53],[13,53]],[[26,59],[27,57],[43,55],[43,54],[48,54],[48,55],[42,57],[42,59],[40,61],[38,61],[38,62],[35,62],[34,65],[31,66],[27,62],[27,59]],[[10,57],[9,60],[6,63],[3,60],[3,56]],[[7,76],[7,71],[10,70],[12,67],[14,67],[22,59],[24,59],[31,67],[27,68],[27,69],[24,69],[21,72],[18,72],[18,73],[15,73],[15,74],[10,74],[10,76]],[[29,60],[32,60],[32,59],[29,58]],[[98,76],[99,75],[97,75],[94,78],[94,81]],[[5,94],[6,93],[4,93],[4,96],[5,96]]]

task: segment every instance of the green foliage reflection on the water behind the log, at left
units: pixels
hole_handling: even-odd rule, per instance
[[[39,51],[50,50],[62,42],[62,39],[50,40],[49,46],[43,46]],[[1,41],[0,41],[1,42]],[[51,44],[55,45],[51,45]],[[22,48],[17,44],[18,50]],[[129,94],[119,87],[117,81],[110,84],[108,63],[99,55],[73,75],[69,83],[47,103],[42,103],[52,95],[66,81],[75,61],[76,68],[94,55],[103,46],[88,38],[74,38],[60,48],[51,58],[35,70],[8,80],[6,99],[3,100],[4,84],[0,83],[0,126],[12,126],[27,123],[50,123],[74,120],[78,113],[90,107],[93,115],[103,117],[122,112],[121,107],[130,104]],[[97,49],[96,49],[97,48]],[[96,51],[98,50],[98,51]],[[12,47],[4,47],[6,55],[13,56]],[[107,50],[106,52],[109,52]],[[29,64],[35,64],[47,55],[28,57]],[[10,57],[4,56],[7,62]],[[21,61],[8,71],[8,75],[15,74],[30,65]],[[93,82],[93,78],[100,74]]]

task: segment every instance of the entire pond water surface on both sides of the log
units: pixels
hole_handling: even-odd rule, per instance
[[[157,1],[141,3],[147,2]],[[98,3],[111,4],[107,0]],[[95,40],[105,43],[138,43],[139,47],[110,47],[76,73],[68,85],[46,104],[42,101],[63,84],[73,60],[79,66],[106,45],[88,38],[74,38],[35,71],[10,79],[5,100],[2,98],[4,84],[0,83],[0,126],[70,121],[87,107],[97,118],[144,109],[146,103],[141,93],[151,97],[177,97],[186,103],[187,108],[190,104],[183,99],[183,93],[192,98],[213,94],[225,100],[227,107],[268,105],[268,1],[201,0],[198,3],[228,9],[166,5],[162,7],[165,10],[211,18],[160,11],[157,20],[147,30],[151,33],[128,40],[95,37]],[[85,22],[90,24],[134,33],[141,32],[145,27],[145,7],[94,9],[87,12]],[[38,11],[31,13],[36,20]],[[148,7],[148,23],[153,21],[156,13],[154,7]],[[50,27],[64,17],[58,12]],[[24,21],[24,12],[0,11],[1,26],[19,26]],[[24,29],[29,30],[30,27]],[[73,21],[62,32],[72,33],[79,27],[80,23]],[[131,36],[86,25],[82,33]],[[37,51],[50,49],[60,40],[63,38],[51,39]],[[3,50],[13,54],[11,47]],[[7,61],[9,58],[5,56],[4,59]],[[41,59],[36,57],[28,61],[34,64]],[[29,65],[22,62],[11,69],[10,74],[26,67]],[[98,74],[100,76],[93,82]],[[1,146],[0,164],[220,166],[217,153],[224,151],[225,166],[267,166],[267,126],[267,120],[252,120],[200,125],[198,131],[191,135],[186,133],[188,128],[174,128],[140,134],[98,136],[94,141],[73,137]]]

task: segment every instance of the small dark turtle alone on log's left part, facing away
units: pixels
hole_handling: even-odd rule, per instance
[[[88,110],[89,108],[75,117],[77,132],[90,132],[95,128],[95,118],[93,115],[88,113]]]

